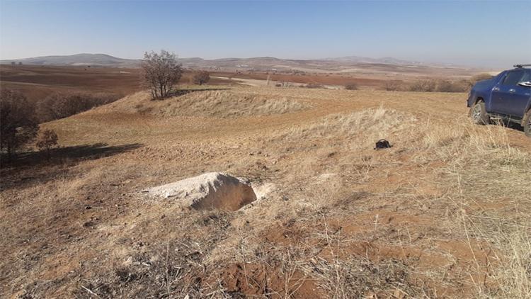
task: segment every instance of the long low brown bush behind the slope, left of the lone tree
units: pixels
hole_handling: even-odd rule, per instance
[[[40,122],[66,118],[70,115],[90,110],[91,108],[118,100],[115,94],[86,92],[69,92],[50,94],[38,102],[37,115]]]

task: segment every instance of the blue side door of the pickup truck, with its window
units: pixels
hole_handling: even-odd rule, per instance
[[[527,75],[524,69],[513,69],[501,78],[492,89],[491,112],[518,118],[523,116],[525,105],[529,101],[530,89],[518,86],[518,82],[525,79]]]

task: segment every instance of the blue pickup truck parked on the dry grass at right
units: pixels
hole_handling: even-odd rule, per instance
[[[489,80],[477,82],[467,106],[474,123],[486,125],[491,118],[518,123],[531,137],[531,64],[517,64]]]

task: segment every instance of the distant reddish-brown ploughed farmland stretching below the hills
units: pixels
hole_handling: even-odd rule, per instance
[[[387,67],[387,68],[385,68]],[[379,69],[380,68],[380,69]],[[392,65],[368,66],[367,72],[329,74],[304,73],[285,74],[269,72],[211,72],[210,85],[234,85],[240,80],[270,80],[271,85],[282,82],[296,84],[322,84],[325,86],[345,86],[354,83],[361,89],[384,89],[387,83],[404,85],[416,80],[451,78],[469,79],[480,70],[445,69],[426,67],[418,72],[393,72]],[[385,72],[384,72],[385,71]],[[402,71],[402,72],[398,72]],[[187,69],[181,82],[190,83],[195,71]],[[260,84],[265,85],[265,84]],[[37,103],[42,98],[57,92],[84,92],[88,94],[105,93],[126,96],[143,89],[140,81],[140,69],[119,67],[73,67],[0,64],[0,86],[23,93],[30,102]]]

